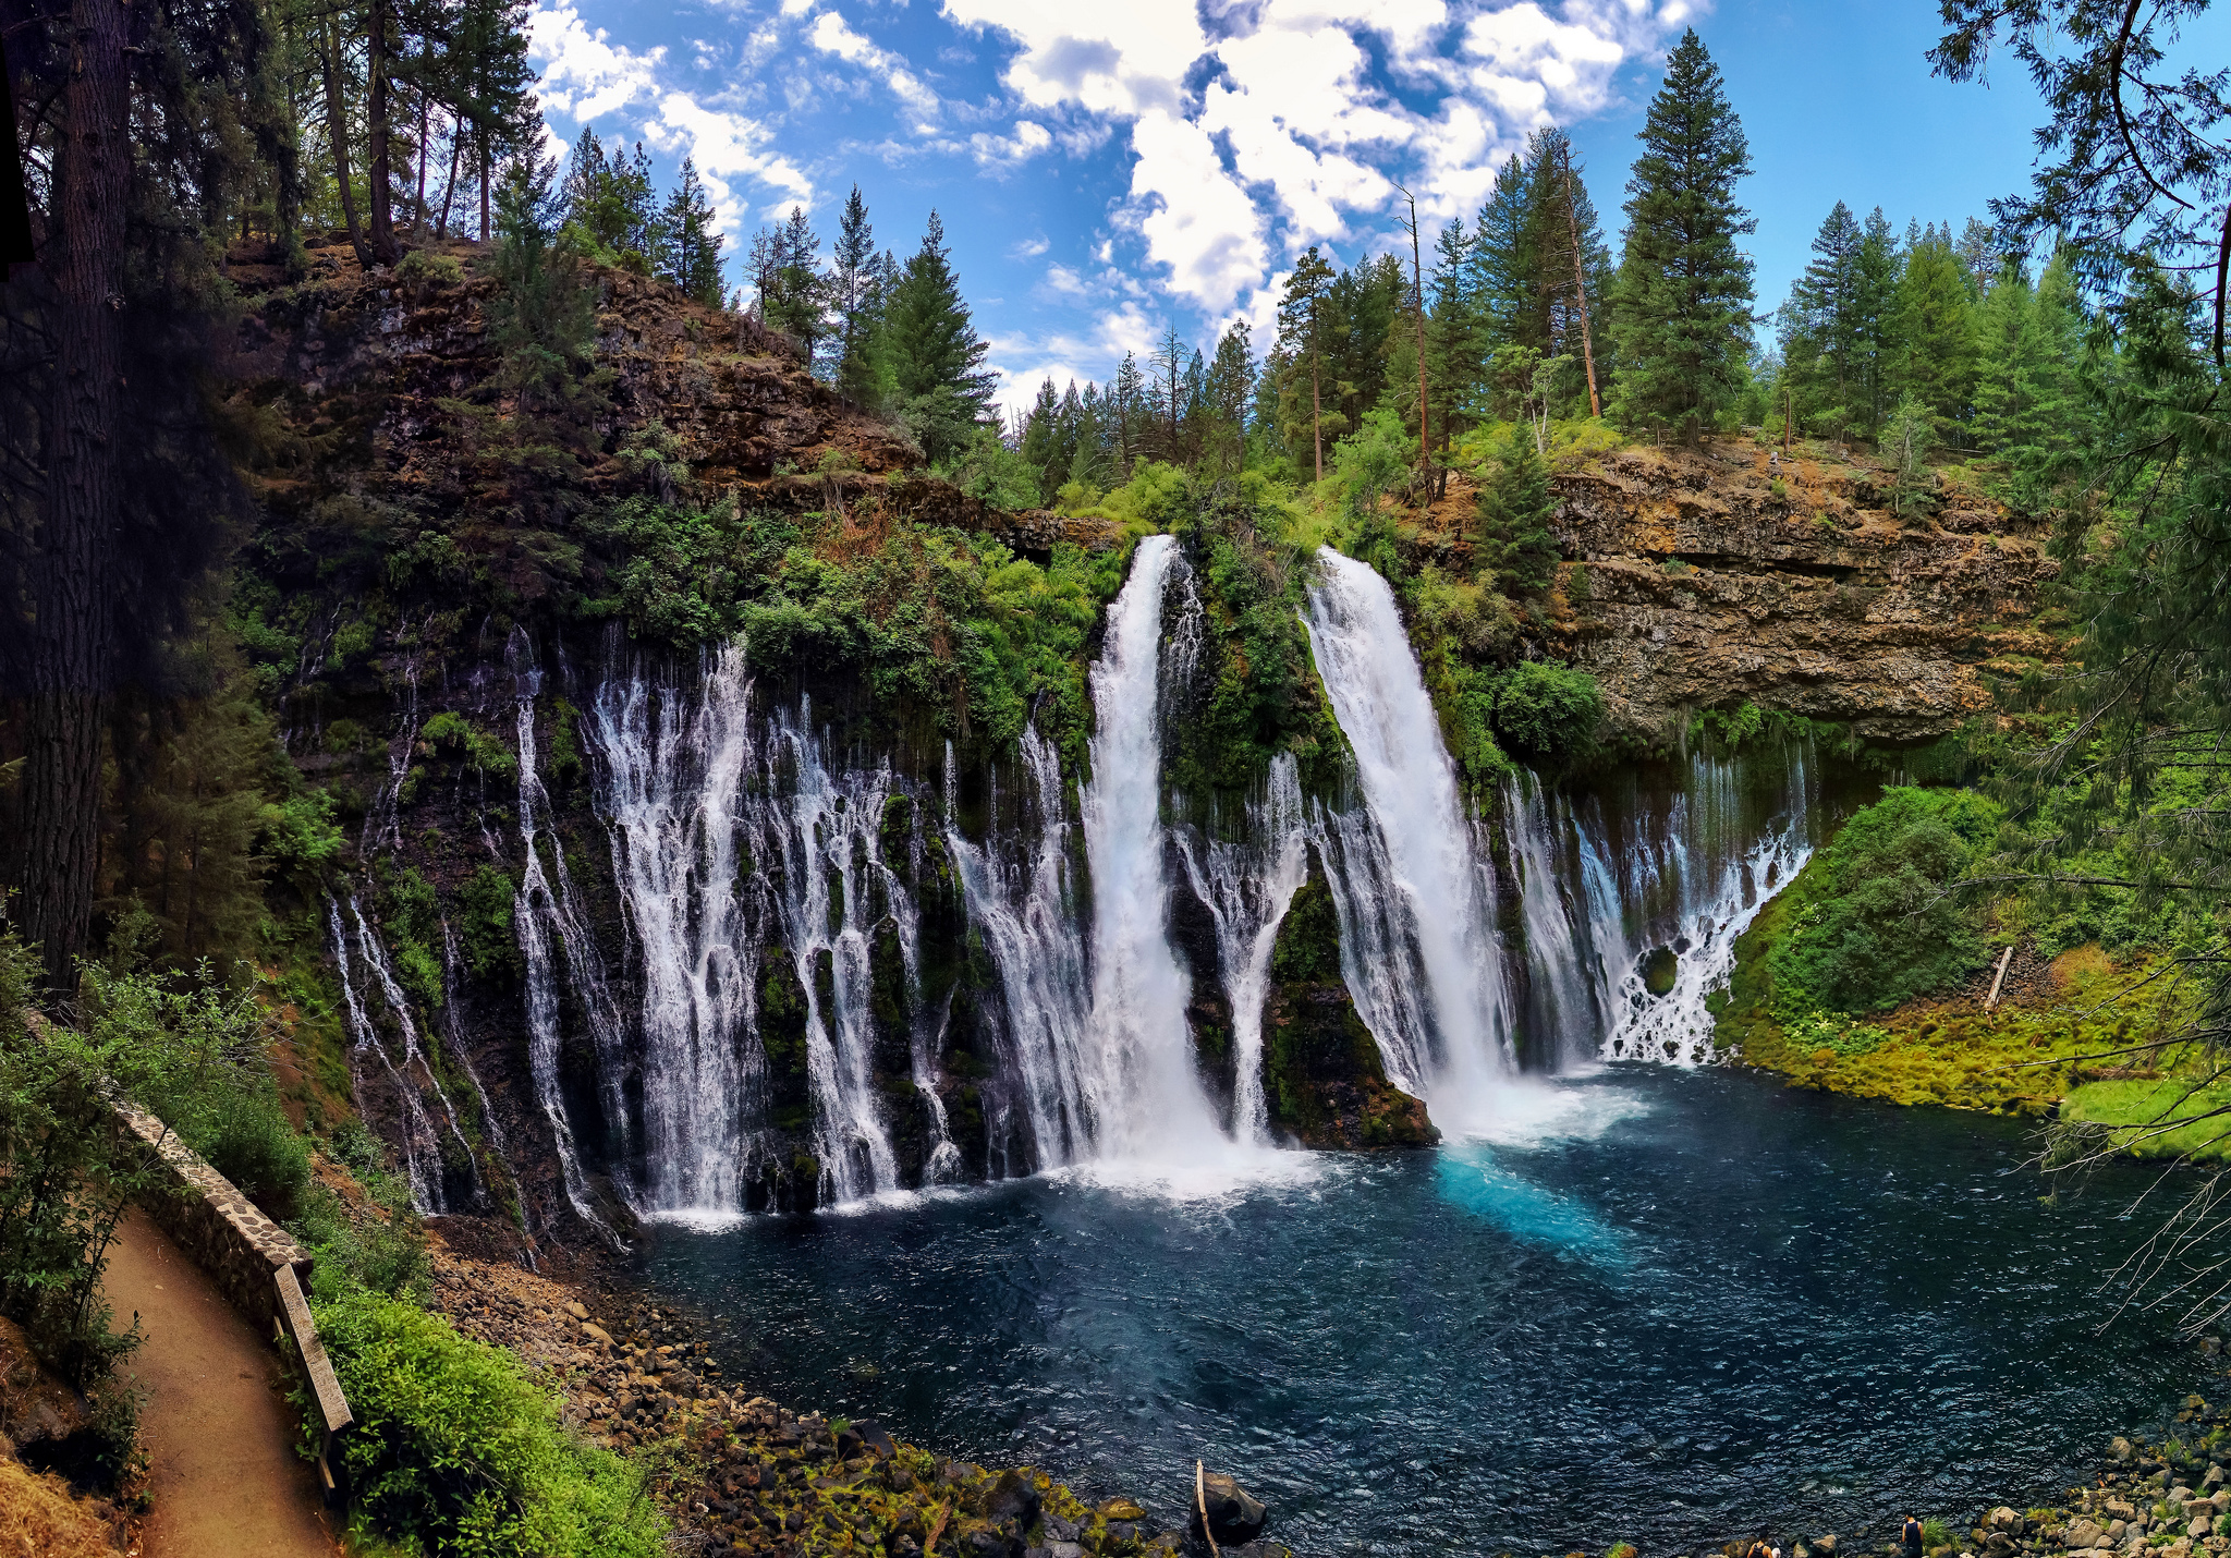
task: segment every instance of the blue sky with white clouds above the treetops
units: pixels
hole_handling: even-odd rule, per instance
[[[852,185],[901,261],[935,208],[1002,375],[1107,382],[1176,326],[1269,346],[1312,243],[1348,266],[1477,212],[1526,132],[1559,123],[1613,250],[1635,132],[1696,27],[1751,145],[1738,185],[1758,310],[1841,199],[1861,217],[1988,217],[2028,183],[2026,76],[1930,76],[1934,0],[535,0],[556,141],[643,143],[705,176],[741,283],[750,234]]]

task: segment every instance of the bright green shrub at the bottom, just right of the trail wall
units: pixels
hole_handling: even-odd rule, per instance
[[[571,1437],[513,1355],[368,1290],[317,1304],[317,1328],[357,1420],[339,1458],[373,1531],[475,1558],[665,1551],[643,1473]]]

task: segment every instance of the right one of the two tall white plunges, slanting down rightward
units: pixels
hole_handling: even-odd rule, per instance
[[[1345,873],[1336,888],[1348,900],[1339,908],[1343,971],[1390,1080],[1399,1074],[1397,1087],[1423,1091],[1443,1129],[1461,1129],[1488,1109],[1495,1078],[1513,1065],[1486,850],[1472,837],[1388,583],[1321,547],[1303,621],[1334,719],[1356,754],[1372,833],[1365,839],[1361,828],[1334,828],[1339,848],[1327,850],[1327,866],[1336,862]],[[1354,966],[1350,942],[1359,960],[1365,949],[1394,958]],[[1390,989],[1406,978],[1403,951],[1423,973],[1426,1011],[1410,1004],[1406,1013],[1406,993]],[[1397,1016],[1430,1016],[1430,1027],[1417,1036],[1381,1029]]]

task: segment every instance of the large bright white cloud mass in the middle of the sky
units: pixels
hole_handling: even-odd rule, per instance
[[[1276,254],[1383,225],[1394,176],[1428,214],[1468,210],[1528,129],[1602,112],[1617,71],[1696,9],[1261,0],[1211,36],[1191,0],[946,0],[1015,45],[1004,83],[1028,107],[1129,129],[1124,225],[1174,292],[1227,317],[1261,317]]]

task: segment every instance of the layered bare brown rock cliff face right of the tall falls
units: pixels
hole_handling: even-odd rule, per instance
[[[1901,520],[1881,471],[1794,460],[1776,478],[1738,442],[1620,451],[1559,475],[1557,500],[1557,647],[1638,732],[1751,701],[1923,741],[2059,647],[2037,525],[1963,487]]]

